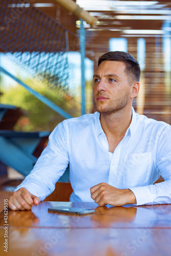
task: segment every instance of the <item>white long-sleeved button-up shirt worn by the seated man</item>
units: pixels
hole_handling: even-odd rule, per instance
[[[90,188],[105,182],[130,188],[137,205],[171,203],[171,126],[134,109],[131,124],[114,153],[109,152],[98,112],[59,123],[34,169],[15,190],[25,187],[44,200],[68,163],[73,188],[70,201],[94,201]],[[160,175],[165,181],[154,184]]]

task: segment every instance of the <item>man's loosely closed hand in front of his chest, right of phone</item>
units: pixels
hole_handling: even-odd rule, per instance
[[[130,189],[119,189],[104,182],[91,187],[91,197],[100,206],[110,204],[122,206],[136,204],[136,197]]]

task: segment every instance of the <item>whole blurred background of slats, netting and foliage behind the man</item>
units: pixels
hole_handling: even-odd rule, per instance
[[[2,175],[10,176],[7,166],[17,169],[26,155],[22,161],[30,165],[17,173],[27,175],[59,122],[95,111],[92,77],[98,58],[108,51],[129,52],[140,63],[135,111],[171,124],[171,3],[73,0],[97,18],[91,26],[80,20],[80,9],[68,10],[63,2],[66,6],[53,0],[0,4]],[[16,147],[24,153],[16,155]]]

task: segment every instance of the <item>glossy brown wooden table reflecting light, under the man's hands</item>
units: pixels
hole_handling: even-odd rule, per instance
[[[95,209],[77,216],[48,212],[50,206]],[[0,255],[160,256],[171,254],[171,205],[98,207],[96,203],[41,202],[28,211],[8,211],[8,253],[4,211]]]

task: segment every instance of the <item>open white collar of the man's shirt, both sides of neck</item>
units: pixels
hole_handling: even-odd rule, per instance
[[[99,136],[99,134],[104,133],[103,129],[101,127],[101,123],[100,123],[100,113],[95,112],[94,114],[95,114],[95,130],[96,130],[97,136]],[[136,116],[135,110],[132,106],[132,120],[131,120],[130,126],[128,127],[125,135],[127,135],[129,132],[131,133],[131,135],[133,134],[133,132],[135,130],[136,122],[137,122],[137,116]]]

